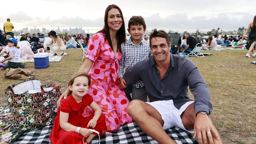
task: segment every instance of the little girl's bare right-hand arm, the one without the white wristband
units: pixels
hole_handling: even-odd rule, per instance
[[[94,128],[96,126],[96,123],[97,123],[98,119],[100,118],[101,108],[100,108],[100,106],[96,102],[92,102],[89,106],[94,110],[94,116],[88,122],[87,127]]]

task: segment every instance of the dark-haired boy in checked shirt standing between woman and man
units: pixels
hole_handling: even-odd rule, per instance
[[[145,42],[143,35],[146,31],[145,20],[141,16],[133,16],[128,22],[128,32],[131,37],[128,41],[121,44],[122,59],[119,62],[119,82],[124,89],[127,98],[147,101],[147,92],[143,82],[137,81],[133,85],[126,85],[123,78],[124,68],[128,70],[139,61],[144,61],[151,56],[149,43]],[[132,98],[130,94],[132,93]]]

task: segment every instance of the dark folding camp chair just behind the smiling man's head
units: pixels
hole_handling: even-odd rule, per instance
[[[171,54],[178,54],[180,50],[180,33],[170,33],[170,42],[171,42]]]

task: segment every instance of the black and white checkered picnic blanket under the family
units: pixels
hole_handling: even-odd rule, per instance
[[[49,144],[49,137],[52,126],[34,129],[24,133],[13,144]],[[166,133],[178,144],[198,144],[198,142],[187,131],[173,127],[166,130]],[[98,144],[99,138],[93,139],[92,144]],[[101,144],[157,144],[156,140],[146,135],[135,122],[126,124],[115,133],[106,133],[101,137]]]

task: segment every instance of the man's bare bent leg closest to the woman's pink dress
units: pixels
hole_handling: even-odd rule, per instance
[[[132,100],[127,110],[139,128],[154,140],[161,144],[176,144],[163,130],[164,122],[154,107],[141,100]]]

